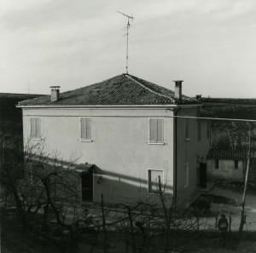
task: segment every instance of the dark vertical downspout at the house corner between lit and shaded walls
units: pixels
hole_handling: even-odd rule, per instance
[[[174,161],[173,161],[173,164],[174,164],[174,171],[173,171],[173,177],[174,177],[174,181],[173,181],[173,195],[174,195],[174,206],[176,207],[177,206],[177,112],[179,112],[180,110],[180,106],[177,107],[176,110],[173,110],[173,120],[174,120],[174,148],[173,148],[173,158],[174,158]]]

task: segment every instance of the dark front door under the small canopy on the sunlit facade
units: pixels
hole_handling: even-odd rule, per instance
[[[82,200],[93,201],[93,174],[91,171],[81,175]]]

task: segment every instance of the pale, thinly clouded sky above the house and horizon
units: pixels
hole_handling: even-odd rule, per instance
[[[129,73],[185,95],[256,98],[255,0],[2,0],[0,92],[49,94]]]

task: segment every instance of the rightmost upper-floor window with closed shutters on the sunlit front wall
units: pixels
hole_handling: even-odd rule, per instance
[[[164,118],[149,118],[149,143],[164,143]]]

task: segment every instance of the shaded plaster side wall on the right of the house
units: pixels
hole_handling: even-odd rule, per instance
[[[197,109],[188,108],[177,112],[177,116],[196,117]],[[207,134],[207,120],[189,118],[189,138],[185,136],[185,118],[177,118],[177,203],[188,200],[199,185],[199,165],[207,163],[210,135]],[[201,138],[198,137],[198,121],[201,124]],[[189,185],[185,186],[185,164],[189,164]]]

